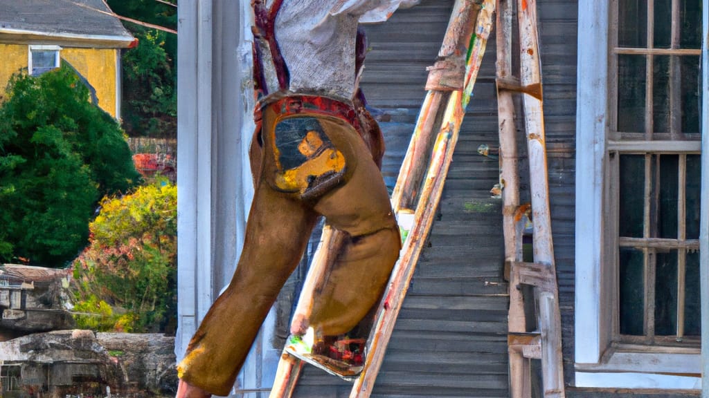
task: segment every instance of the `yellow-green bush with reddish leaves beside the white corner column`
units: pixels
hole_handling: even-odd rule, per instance
[[[177,188],[166,181],[104,198],[91,222],[91,243],[74,261],[78,307],[123,311],[89,329],[165,331],[177,312]],[[96,302],[99,305],[95,305]],[[88,305],[87,305],[88,303]],[[104,303],[101,305],[101,303]],[[111,326],[112,325],[112,326]]]

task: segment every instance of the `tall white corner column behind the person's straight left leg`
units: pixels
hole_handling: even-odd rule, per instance
[[[178,6],[178,359],[229,283],[253,195],[249,3],[184,0]],[[267,379],[264,342],[269,339],[257,341],[258,354],[247,360],[238,385],[261,388]]]

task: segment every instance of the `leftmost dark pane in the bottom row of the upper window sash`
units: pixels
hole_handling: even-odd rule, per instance
[[[618,131],[645,131],[645,57],[618,55]]]

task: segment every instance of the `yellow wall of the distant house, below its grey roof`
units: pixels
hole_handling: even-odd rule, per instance
[[[28,68],[28,45],[0,44],[0,96],[4,96],[12,74]],[[60,57],[96,90],[99,107],[116,117],[116,62],[118,50],[62,46]]]

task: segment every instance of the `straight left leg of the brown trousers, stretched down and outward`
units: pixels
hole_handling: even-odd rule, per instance
[[[300,261],[316,218],[299,200],[257,183],[238,266],[178,365],[182,380],[229,394],[269,309]]]

